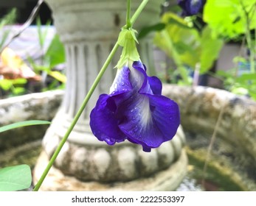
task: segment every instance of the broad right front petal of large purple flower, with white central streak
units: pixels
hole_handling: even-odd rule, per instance
[[[129,141],[141,144],[144,150],[159,147],[176,134],[180,123],[179,107],[165,96],[139,95],[143,100],[126,105],[126,119],[120,129]]]

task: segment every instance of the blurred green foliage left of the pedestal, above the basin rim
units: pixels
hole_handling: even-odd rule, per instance
[[[10,29],[6,29],[4,26],[7,24],[13,24],[15,22],[15,16],[16,10],[13,9],[10,13],[7,13],[7,15],[0,19],[0,30],[2,32],[0,39],[0,51],[3,51],[3,46],[6,45],[11,29],[11,27]],[[37,91],[38,88],[41,88],[40,90],[44,91],[63,88],[65,85],[66,76],[63,74],[63,71],[55,70],[56,66],[65,63],[65,49],[63,43],[60,42],[59,36],[55,34],[49,43],[49,46],[45,48],[49,26],[51,26],[50,21],[46,23],[44,29],[41,25],[40,18],[36,19],[36,24],[38,29],[39,49],[42,53],[41,60],[38,63],[35,62],[32,57],[27,57],[27,61],[35,74],[42,77],[41,82],[30,82],[28,79],[20,77],[18,79],[2,78],[0,79],[2,98],[28,93],[30,92],[31,87],[34,87]],[[32,91],[33,90],[34,89],[32,88]]]

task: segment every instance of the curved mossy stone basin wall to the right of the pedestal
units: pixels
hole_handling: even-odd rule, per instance
[[[181,125],[192,149],[208,148],[256,182],[256,102],[226,90],[164,85],[163,94],[178,102]],[[221,118],[216,127],[218,118]]]

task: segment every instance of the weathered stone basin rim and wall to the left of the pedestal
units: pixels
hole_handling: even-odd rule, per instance
[[[1,99],[0,126],[27,120],[51,121],[60,106],[62,97],[62,90],[52,90]],[[42,139],[48,127],[49,125],[36,125],[1,132],[0,151],[24,142]]]

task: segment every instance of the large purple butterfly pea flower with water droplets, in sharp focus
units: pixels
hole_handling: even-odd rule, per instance
[[[91,131],[108,145],[128,140],[151,152],[170,141],[180,124],[178,104],[161,93],[162,82],[148,77],[140,60],[128,60],[91,111]]]

